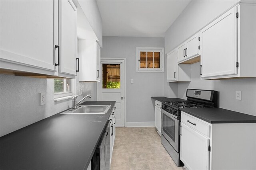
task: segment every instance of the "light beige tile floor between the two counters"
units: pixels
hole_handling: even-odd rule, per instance
[[[184,170],[161,144],[155,127],[117,127],[111,170]]]

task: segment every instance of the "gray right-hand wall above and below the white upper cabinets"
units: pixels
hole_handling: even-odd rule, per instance
[[[228,8],[235,5],[238,0],[202,1],[193,0],[166,31],[165,53],[174,49],[191,35],[202,29],[214,18],[218,17]],[[184,27],[184,25],[186,25]],[[256,115],[256,78],[242,78],[230,80],[200,80],[200,63],[192,64],[191,82],[174,82],[165,85],[165,96],[175,96],[186,99],[186,88],[199,88],[218,90],[219,107],[239,111],[250,115]],[[165,76],[166,81],[166,76]],[[167,88],[167,89],[166,89]],[[235,100],[235,91],[242,91],[242,100]]]

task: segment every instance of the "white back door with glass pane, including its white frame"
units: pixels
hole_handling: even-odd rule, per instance
[[[124,60],[101,59],[102,78],[97,82],[98,101],[116,101],[116,127],[124,127],[124,91],[125,63]]]

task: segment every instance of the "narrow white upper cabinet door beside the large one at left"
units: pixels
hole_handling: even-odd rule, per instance
[[[76,75],[76,14],[76,6],[72,0],[59,1],[59,72],[70,75]]]

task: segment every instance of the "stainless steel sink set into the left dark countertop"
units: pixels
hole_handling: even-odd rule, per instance
[[[105,114],[111,105],[80,105],[77,109],[60,113],[62,115],[69,114]]]

